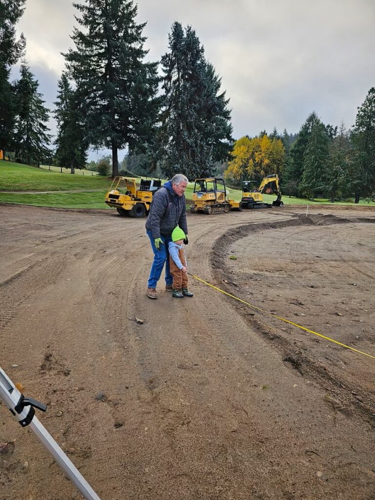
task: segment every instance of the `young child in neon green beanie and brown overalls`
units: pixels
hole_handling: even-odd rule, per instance
[[[180,227],[175,227],[172,232],[172,241],[168,243],[169,269],[173,276],[172,296],[177,298],[192,297],[193,293],[187,291],[186,257],[183,249],[185,233]]]

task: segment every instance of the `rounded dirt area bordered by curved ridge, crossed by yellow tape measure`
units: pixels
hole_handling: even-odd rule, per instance
[[[230,229],[215,240],[210,254],[214,275],[216,281],[220,283],[220,287],[254,305],[251,308],[251,306],[241,302],[236,303],[233,300],[233,305],[243,314],[249,326],[257,331],[272,348],[279,350],[284,363],[326,390],[327,400],[338,411],[351,416],[360,414],[372,425],[375,425],[373,385],[367,384],[366,377],[361,379],[358,376],[360,369],[358,372],[355,368],[355,366],[361,365],[364,356],[353,351],[345,351],[344,347],[330,343],[329,340],[322,340],[321,337],[315,336],[313,333],[306,333],[298,329],[297,326],[290,326],[289,323],[277,319],[276,316],[308,327],[312,331],[325,334],[337,341],[340,340],[341,343],[349,344],[357,350],[363,350],[375,356],[371,334],[373,331],[371,325],[375,325],[372,300],[373,284],[371,282],[374,277],[373,259],[375,258],[374,247],[371,245],[371,241],[374,240],[371,238],[375,236],[374,222],[375,219],[365,217],[349,219],[336,217],[332,214],[318,213],[308,216],[295,214],[290,220],[251,223]],[[296,255],[304,253],[304,244],[297,243],[292,238],[293,234],[294,237],[297,237],[295,235],[298,232],[302,233],[303,230],[309,232],[309,226],[328,226],[326,229],[321,229],[321,231],[324,230],[321,238],[323,238],[322,241],[324,238],[330,240],[334,246],[334,234],[329,226],[335,224],[350,224],[351,228],[365,227],[363,224],[371,224],[372,232],[369,231],[368,240],[365,243],[356,240],[353,242],[348,239],[347,244],[353,255],[344,259],[342,256],[338,256],[338,265],[335,264],[335,266],[339,270],[334,272],[330,282],[328,279],[328,282],[324,283],[327,280],[327,268],[332,267],[331,256],[324,265],[324,256],[321,258],[320,255],[315,255],[319,250],[315,249],[313,238],[308,245],[311,251],[305,254],[305,258],[299,259],[297,257],[294,265],[290,261],[285,261],[283,254],[285,245],[295,246]],[[300,231],[295,232],[294,229],[300,229]],[[283,233],[287,235],[283,236]],[[314,230],[314,234],[319,237],[319,230]],[[353,237],[355,238],[354,234]],[[285,238],[288,240],[287,242]],[[242,241],[241,245],[238,244],[240,240]],[[362,241],[362,239],[360,240]],[[262,241],[263,243],[261,243]],[[271,242],[270,245],[269,242]],[[357,262],[360,261],[360,251],[365,244],[368,245],[369,254],[372,255],[373,259],[365,262],[362,268],[358,269]],[[235,253],[234,261],[228,259],[231,253]],[[319,262],[316,262],[313,279],[308,284],[301,285],[298,281],[307,275],[306,269],[303,269],[305,263],[314,264],[311,254],[314,255],[312,258],[319,259]],[[366,268],[371,268],[372,272],[367,273]],[[349,284],[345,282],[345,280],[351,281],[352,277],[350,276],[355,275],[356,271],[360,272],[360,277],[358,278],[357,275],[353,279],[358,282]],[[275,276],[282,276],[282,279],[277,280]],[[329,304],[324,303],[323,297],[318,295],[321,286],[330,288],[324,290],[324,295],[330,297]],[[350,297],[342,300],[348,294],[345,292],[345,288],[348,287],[355,288],[355,299]],[[249,292],[249,290],[252,291]],[[282,297],[280,293],[283,294]],[[351,290],[349,294],[352,294]],[[277,305],[274,302],[277,302]],[[341,303],[349,305],[349,307],[343,307]],[[334,307],[333,311],[332,306]],[[257,308],[261,308],[264,312],[259,312]],[[366,319],[359,319],[358,308],[365,312]],[[341,309],[344,309],[344,312],[340,312]],[[332,316],[334,320],[332,320]],[[357,320],[353,321],[353,317],[357,317]],[[340,324],[338,324],[338,319],[340,319]],[[345,326],[342,323],[344,319],[346,319]],[[356,334],[359,333],[358,326],[361,326],[358,323],[364,321],[367,322],[367,325],[364,329],[360,329],[359,336]],[[352,324],[356,326],[355,334],[353,334]],[[353,367],[342,369],[347,363],[345,360],[347,356],[353,363]],[[369,358],[367,357],[367,359]],[[365,375],[363,374],[363,376]]]

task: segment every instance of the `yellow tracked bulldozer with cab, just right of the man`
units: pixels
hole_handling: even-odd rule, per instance
[[[229,210],[241,210],[241,202],[227,198],[224,179],[221,177],[210,177],[195,179],[192,193],[192,213],[227,213]]]

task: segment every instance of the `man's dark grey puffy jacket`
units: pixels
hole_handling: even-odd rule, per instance
[[[155,192],[152,197],[146,229],[151,230],[153,238],[170,236],[179,226],[187,234],[185,195],[178,196],[172,189],[170,180]]]

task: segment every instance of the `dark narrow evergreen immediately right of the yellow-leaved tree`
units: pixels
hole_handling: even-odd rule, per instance
[[[291,145],[289,150],[289,160],[287,167],[285,169],[285,184],[299,185],[302,174],[303,174],[303,164],[304,164],[304,154],[307,147],[308,138],[311,134],[312,126],[315,122],[319,121],[317,114],[313,111],[307,116],[306,121],[301,126],[297,138]],[[297,195],[298,192],[294,192]]]

